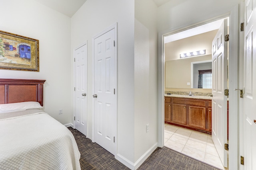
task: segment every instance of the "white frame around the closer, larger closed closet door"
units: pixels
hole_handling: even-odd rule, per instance
[[[92,80],[92,93],[94,93],[94,40],[98,37],[100,37],[101,35],[107,33],[108,31],[114,29],[115,30],[115,38],[114,38],[114,41],[115,41],[115,86],[116,86],[116,95],[115,95],[115,100],[116,100],[116,108],[115,108],[115,120],[114,120],[114,123],[115,123],[115,158],[116,158],[116,154],[117,154],[117,143],[118,143],[118,137],[117,137],[117,95],[118,95],[118,88],[117,88],[117,23],[114,23],[113,25],[111,25],[110,27],[104,29],[103,31],[101,31],[100,33],[98,33],[97,35],[95,35],[94,37],[92,37],[92,77],[93,77],[93,80]],[[94,98],[92,98],[92,142],[95,142],[94,141],[94,104],[95,104],[95,100]]]

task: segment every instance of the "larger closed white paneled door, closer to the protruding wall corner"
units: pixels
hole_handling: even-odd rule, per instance
[[[115,29],[94,39],[94,141],[115,154]]]

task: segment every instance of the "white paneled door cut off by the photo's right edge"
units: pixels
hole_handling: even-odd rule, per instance
[[[243,155],[244,170],[256,168],[256,0],[245,0],[243,67]]]

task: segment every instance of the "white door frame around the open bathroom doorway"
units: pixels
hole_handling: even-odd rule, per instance
[[[240,23],[238,5],[233,6],[226,11],[219,11],[215,13],[215,17],[209,17],[208,20],[198,21],[193,25],[186,25],[159,32],[158,34],[158,147],[164,147],[164,36],[178,33],[193,27],[204,25],[206,23],[229,17],[229,37],[230,37],[230,54],[229,58],[229,168],[238,169],[238,94],[234,88],[238,88],[238,30]],[[230,114],[229,114],[230,115]],[[232,162],[232,163],[231,163]]]

